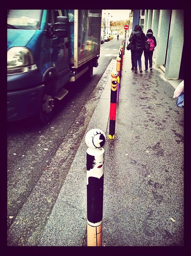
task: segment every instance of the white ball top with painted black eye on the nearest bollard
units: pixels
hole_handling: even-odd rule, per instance
[[[100,129],[91,129],[86,133],[85,142],[89,148],[100,149],[105,144],[105,133]]]

